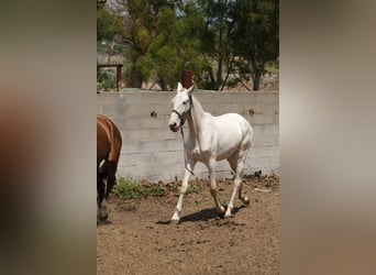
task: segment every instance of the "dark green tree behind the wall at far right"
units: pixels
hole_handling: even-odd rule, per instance
[[[232,48],[241,75],[259,90],[265,66],[279,56],[279,1],[237,0],[232,6]]]

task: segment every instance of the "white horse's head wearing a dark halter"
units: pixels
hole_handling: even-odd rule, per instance
[[[190,112],[192,105],[192,90],[193,86],[191,86],[189,89],[186,89],[180,82],[178,82],[176,96],[172,100],[173,111],[168,121],[168,127],[173,132],[177,132],[186,122],[187,116]]]

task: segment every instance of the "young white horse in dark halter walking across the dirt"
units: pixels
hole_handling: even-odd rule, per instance
[[[239,193],[239,198],[243,204],[250,204],[250,199],[242,196],[242,178],[246,154],[253,140],[252,127],[237,113],[213,117],[203,111],[200,102],[191,95],[192,90],[193,86],[185,89],[178,82],[177,95],[172,100],[174,109],[168,121],[168,127],[173,132],[181,129],[186,120],[188,121],[189,129],[189,133],[184,140],[186,170],[175,213],[172,217],[173,221],[179,221],[180,219],[179,213],[181,211],[184,194],[188,188],[189,174],[192,174],[197,162],[206,164],[209,168],[210,194],[214,199],[215,209],[219,215],[224,213],[224,208],[220,205],[217,197],[217,161],[226,158],[232,170],[235,173],[234,188],[224,217],[231,217],[236,193]]]

